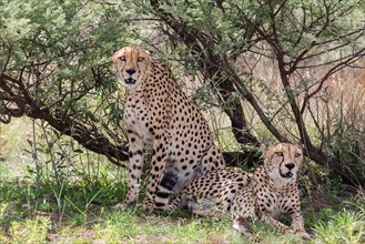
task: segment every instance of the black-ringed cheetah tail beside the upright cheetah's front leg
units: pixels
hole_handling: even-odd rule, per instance
[[[159,210],[169,210],[169,200],[172,193],[172,189],[178,183],[179,176],[174,171],[168,171],[164,173],[155,194],[155,206]]]

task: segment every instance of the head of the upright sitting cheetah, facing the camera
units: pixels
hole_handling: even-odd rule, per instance
[[[118,78],[128,90],[132,90],[148,75],[152,57],[142,49],[125,47],[116,51],[112,60]]]

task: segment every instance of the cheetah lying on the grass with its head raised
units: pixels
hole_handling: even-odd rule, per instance
[[[221,210],[226,209],[233,215],[233,227],[245,235],[252,234],[247,222],[260,218],[283,232],[308,238],[296,184],[297,172],[303,162],[301,148],[280,143],[271,148],[262,144],[261,150],[265,157],[264,163],[252,177],[245,172],[217,170],[190,182],[169,209],[187,206],[202,213],[204,207],[196,203],[196,199],[207,199]],[[168,172],[161,187],[171,189],[176,180],[174,172]],[[293,230],[274,218],[278,214],[291,215]]]

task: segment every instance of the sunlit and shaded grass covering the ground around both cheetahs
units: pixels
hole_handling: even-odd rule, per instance
[[[20,141],[11,133],[2,140]],[[52,144],[38,145],[38,167],[22,151],[27,143],[0,164],[0,243],[250,243],[232,230],[229,215],[150,214],[140,204],[113,210],[126,191],[125,172],[62,141]],[[346,189],[329,180],[318,190],[302,199],[310,243],[365,243],[364,192],[343,197]],[[307,243],[258,221],[253,230],[260,243]]]

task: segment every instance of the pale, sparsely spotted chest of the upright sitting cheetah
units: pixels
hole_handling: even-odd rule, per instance
[[[124,122],[145,144],[152,145],[151,119],[149,118],[148,108],[143,103],[128,100],[124,106]]]

